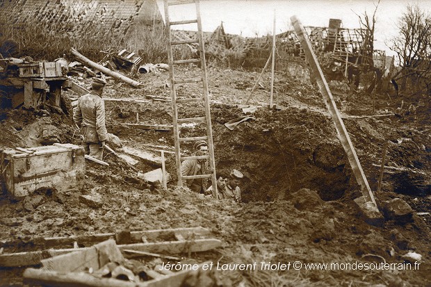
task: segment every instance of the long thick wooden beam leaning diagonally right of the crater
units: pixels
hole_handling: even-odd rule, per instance
[[[355,148],[353,147],[347,130],[345,129],[343,120],[341,120],[340,112],[336,108],[336,104],[334,98],[332,97],[330,87],[327,85],[325,76],[323,76],[322,69],[320,69],[316,54],[314,54],[314,51],[311,48],[311,43],[305,35],[304,27],[296,16],[291,17],[291,22],[293,24],[293,27],[295,28],[296,35],[298,35],[298,39],[300,40],[302,48],[304,49],[305,56],[307,57],[314,77],[316,78],[320,93],[325,100],[326,107],[331,114],[332,120],[334,120],[336,132],[338,133],[341,145],[343,145],[344,151],[348,156],[348,160],[350,162],[350,165],[352,166],[352,170],[355,174],[356,180],[361,187],[362,195],[364,195],[364,199],[366,200],[366,202],[372,202],[377,208],[373,192],[371,192],[371,188],[368,185],[368,181],[366,180],[364,170],[362,170],[361,163],[359,163],[359,159],[357,158]]]

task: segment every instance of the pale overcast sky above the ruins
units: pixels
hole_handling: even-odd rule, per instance
[[[164,17],[163,0],[157,3]],[[223,22],[226,33],[253,37],[273,34],[274,12],[275,33],[291,29],[293,15],[304,26],[327,26],[329,19],[335,18],[343,21],[344,28],[359,28],[355,13],[362,15],[367,11],[372,15],[375,3],[371,0],[201,0],[200,7],[204,31],[214,31]],[[396,23],[408,3],[418,3],[423,10],[431,10],[431,0],[381,0],[376,13],[375,49],[389,50],[384,42],[396,35]],[[195,19],[193,5],[171,6],[169,13],[171,21]],[[195,30],[195,25],[182,28]]]

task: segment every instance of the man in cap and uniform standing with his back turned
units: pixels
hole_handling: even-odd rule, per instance
[[[105,126],[105,103],[101,99],[106,81],[93,78],[92,90],[79,98],[74,108],[73,120],[81,129],[82,145],[86,154],[102,160],[107,131]]]

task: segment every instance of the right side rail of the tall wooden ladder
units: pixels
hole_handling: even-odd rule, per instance
[[[211,110],[209,107],[209,95],[208,95],[208,78],[206,75],[206,62],[205,62],[205,47],[204,47],[204,34],[202,33],[202,19],[200,16],[200,1],[196,0],[196,15],[197,15],[197,33],[200,42],[200,58],[201,58],[201,69],[202,69],[202,85],[204,92],[205,101],[205,115],[206,115],[206,134],[208,135],[208,147],[209,147],[209,164],[211,170],[211,183],[213,185],[213,197],[218,199],[217,190],[217,179],[215,176],[215,157],[214,157],[214,145],[213,145],[213,132],[211,126]]]

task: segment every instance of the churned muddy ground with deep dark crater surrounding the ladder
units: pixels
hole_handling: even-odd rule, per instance
[[[192,77],[195,67],[181,69]],[[258,106],[254,120],[238,124],[233,131],[225,123],[243,114],[241,109],[259,72],[209,69],[211,117],[218,170],[236,168],[245,175],[243,203],[214,201],[174,186],[174,156],[166,153],[172,175],[168,190],[138,179],[136,172],[113,154],[104,158],[109,167],[86,163],[82,190],[58,194],[36,192],[22,201],[0,198],[0,240],[18,240],[4,252],[38,249],[32,238],[109,233],[120,229],[145,230],[202,226],[223,246],[204,254],[191,254],[197,261],[220,263],[409,263],[402,256],[421,254],[418,270],[254,270],[219,272],[221,286],[430,286],[431,136],[430,107],[423,102],[416,115],[394,113],[402,97],[352,92],[347,83],[332,82],[337,106],[359,161],[373,191],[377,190],[382,150],[388,142],[382,190],[375,193],[380,210],[387,201],[400,198],[414,209],[412,218],[386,215],[381,227],[366,224],[352,199],[361,196],[359,186],[336,136],[334,124],[315,85],[277,72],[274,102],[268,109],[270,74],[261,80],[250,104]],[[74,79],[87,87],[89,79]],[[111,81],[107,98],[147,99],[169,97],[168,73],[142,74],[141,88]],[[179,97],[195,97],[200,90],[177,89]],[[73,92],[63,95],[75,97]],[[408,101],[408,99],[404,99]],[[416,103],[414,103],[416,104]],[[181,117],[202,115],[203,109],[187,104]],[[171,131],[149,131],[124,126],[139,121],[171,124],[169,102],[130,103],[106,101],[108,131],[125,145],[158,153],[172,151]],[[53,142],[79,144],[70,115],[46,107],[34,110],[2,110],[0,127],[3,147],[34,147]],[[204,133],[204,126],[181,130],[181,135]],[[149,147],[159,146],[159,147]],[[190,152],[190,145],[184,145]],[[139,158],[136,158],[139,159]],[[141,161],[138,170],[158,165]],[[93,208],[79,201],[80,195],[97,193],[103,204]],[[186,254],[187,256],[187,254]],[[412,268],[414,268],[412,261]],[[1,286],[21,286],[22,269],[0,270]]]

